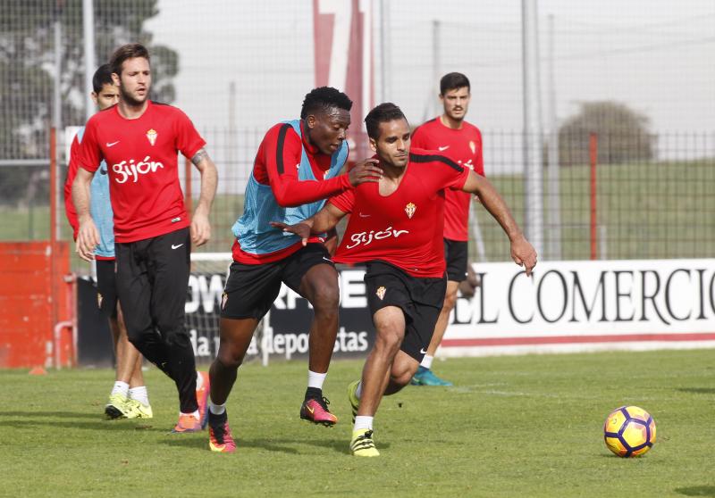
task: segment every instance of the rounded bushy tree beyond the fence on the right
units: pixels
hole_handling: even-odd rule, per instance
[[[588,164],[589,135],[598,134],[598,163],[650,161],[653,157],[649,119],[626,104],[601,101],[581,104],[559,129],[559,163]]]

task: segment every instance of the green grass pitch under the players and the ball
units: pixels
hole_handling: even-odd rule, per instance
[[[0,495],[6,496],[715,496],[711,350],[531,355],[437,362],[451,388],[408,387],[375,420],[383,453],[348,452],[345,388],[325,385],[337,427],[298,418],[303,361],[248,364],[228,403],[238,451],[172,435],[171,382],[147,372],[155,418],[102,419],[113,372],[0,372]],[[650,411],[658,441],[620,459],[602,424],[619,405]]]

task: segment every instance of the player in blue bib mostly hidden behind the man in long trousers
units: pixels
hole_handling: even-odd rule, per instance
[[[99,111],[104,111],[119,102],[119,89],[112,81],[112,69],[109,64],[99,66],[92,78],[92,100]],[[81,128],[72,140],[70,163],[67,179],[64,182],[64,207],[67,220],[73,230],[74,239],[80,229],[77,212],[71,200],[71,187],[79,167],[80,142],[84,128]],[[109,201],[109,178],[106,162],[99,165],[101,174],[95,175],[91,184],[91,205],[89,211],[97,221],[99,244],[95,249],[97,264],[97,301],[100,311],[109,319],[112,332],[114,354],[116,357],[116,378],[109,403],[105,406],[105,415],[109,419],[151,419],[147,387],[141,373],[141,354],[127,338],[122,309],[117,301],[116,279],[114,278],[114,221],[112,204]]]

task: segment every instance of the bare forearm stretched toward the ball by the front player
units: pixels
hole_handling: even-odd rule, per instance
[[[517,221],[509,211],[509,206],[501,198],[497,189],[492,186],[492,183],[481,175],[477,175],[474,171],[469,171],[467,181],[462,187],[462,190],[470,194],[477,195],[480,201],[484,204],[486,210],[492,215],[494,220],[501,225],[501,228],[509,237],[511,243],[511,259],[519,266],[524,266],[526,275],[531,276],[534,266],[536,266],[536,251],[534,247],[526,240],[521,229],[517,225]]]

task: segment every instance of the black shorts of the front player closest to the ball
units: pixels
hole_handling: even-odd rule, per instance
[[[416,278],[381,261],[367,263],[365,273],[370,314],[386,306],[397,306],[405,313],[405,338],[400,349],[422,361],[442,311],[447,279]]]

